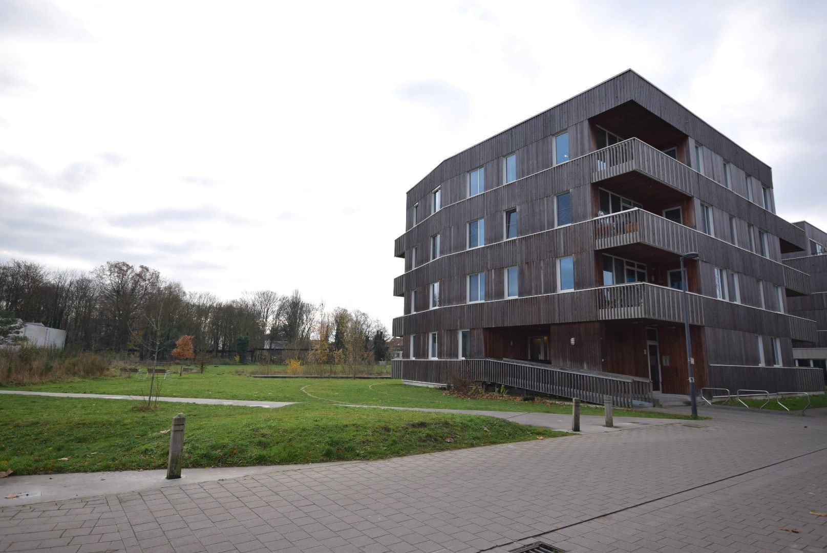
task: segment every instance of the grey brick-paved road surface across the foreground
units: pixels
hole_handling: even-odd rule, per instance
[[[726,412],[4,508],[0,551],[823,551],[825,468],[827,417]]]

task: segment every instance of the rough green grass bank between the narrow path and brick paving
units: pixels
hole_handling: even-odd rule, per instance
[[[381,459],[564,436],[491,417],[307,403],[278,409],[3,396],[0,470],[52,474],[165,468],[171,418],[187,417],[184,468]],[[452,438],[452,441],[446,441]],[[68,458],[68,460],[60,460]]]

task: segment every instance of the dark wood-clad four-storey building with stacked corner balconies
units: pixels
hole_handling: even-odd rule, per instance
[[[409,190],[394,243],[399,370],[511,358],[683,393],[676,288],[689,251],[700,255],[686,271],[699,381],[711,365],[791,367],[792,341],[815,341],[816,322],[790,314],[810,276],[782,258],[807,247],[805,229],[774,212],[766,164],[629,70]]]

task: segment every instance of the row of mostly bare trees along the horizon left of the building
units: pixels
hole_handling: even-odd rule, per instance
[[[0,264],[0,310],[25,322],[66,331],[81,350],[137,352],[169,359],[180,336],[194,336],[198,352],[312,350],[322,363],[383,360],[390,336],[375,318],[355,310],[328,311],[301,293],[271,290],[222,300],[187,292],[146,265],[109,261],[89,272],[53,270],[31,261]],[[337,358],[338,357],[338,358]]]

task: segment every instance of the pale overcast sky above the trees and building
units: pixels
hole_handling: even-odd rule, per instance
[[[0,260],[390,328],[407,190],[629,68],[827,230],[827,2],[0,0]]]

